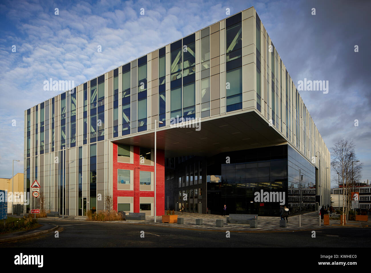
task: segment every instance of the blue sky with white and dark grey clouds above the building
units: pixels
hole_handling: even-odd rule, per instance
[[[0,177],[12,176],[12,159],[23,172],[24,110],[57,95],[46,79],[79,85],[251,6],[296,86],[329,82],[328,94],[300,94],[329,149],[354,140],[371,181],[370,1],[298,0],[1,1]]]

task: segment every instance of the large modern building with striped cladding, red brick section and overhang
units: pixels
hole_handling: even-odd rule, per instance
[[[36,179],[51,211],[85,215],[111,195],[114,209],[153,215],[154,187],[157,215],[181,204],[221,213],[223,203],[276,215],[275,194],[294,211],[314,209],[319,191],[330,201],[330,153],[253,7],[35,105],[24,121],[24,188]]]

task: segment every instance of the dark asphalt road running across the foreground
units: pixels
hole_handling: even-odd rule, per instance
[[[40,224],[46,220],[39,220]],[[53,222],[56,223],[56,222]],[[201,231],[141,224],[59,221],[59,238],[38,237],[0,247],[370,247],[370,228],[326,228],[296,232]],[[144,231],[144,238],[141,238]]]

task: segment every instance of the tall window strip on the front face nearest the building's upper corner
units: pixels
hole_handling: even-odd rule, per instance
[[[226,19],[226,111],[242,109],[242,14]]]

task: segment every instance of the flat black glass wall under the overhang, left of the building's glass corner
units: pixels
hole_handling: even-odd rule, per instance
[[[279,215],[279,202],[255,202],[254,194],[287,192],[287,145],[222,153],[208,162],[207,207],[212,214],[223,214],[225,204],[227,214]]]

